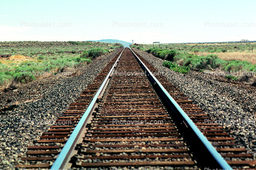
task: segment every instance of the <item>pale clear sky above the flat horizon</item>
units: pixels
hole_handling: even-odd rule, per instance
[[[0,41],[256,40],[255,0],[0,0]]]

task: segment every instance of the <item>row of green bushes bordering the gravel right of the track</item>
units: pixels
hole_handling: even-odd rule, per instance
[[[163,62],[163,66],[179,73],[187,73],[190,69],[201,72],[205,72],[205,69],[211,71],[216,69],[222,72],[219,76],[224,76],[230,80],[244,80],[244,76],[249,77],[250,82],[255,82],[256,79],[256,65],[247,61],[227,61],[218,58],[216,54],[198,56],[169,49],[149,48],[146,52],[167,60]],[[254,84],[251,83],[251,85]]]

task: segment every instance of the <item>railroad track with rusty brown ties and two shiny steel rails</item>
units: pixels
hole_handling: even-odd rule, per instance
[[[17,168],[254,166],[245,148],[237,148],[222,126],[206,124],[205,119],[210,119],[206,113],[125,48],[57,125],[28,147]]]

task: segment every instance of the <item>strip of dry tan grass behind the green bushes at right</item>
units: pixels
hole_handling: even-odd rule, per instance
[[[216,54],[222,60],[239,60],[251,62],[253,65],[256,65],[256,53],[255,52],[194,52],[199,56]]]

